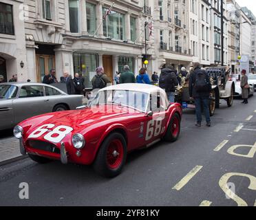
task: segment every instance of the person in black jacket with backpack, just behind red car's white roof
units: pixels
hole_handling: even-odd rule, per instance
[[[165,90],[169,102],[174,102],[175,100],[176,86],[178,86],[178,79],[174,68],[172,65],[167,65],[164,69],[161,70],[159,77],[159,87]]]

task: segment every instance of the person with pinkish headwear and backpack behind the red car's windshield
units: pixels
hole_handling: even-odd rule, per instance
[[[96,68],[96,75],[92,78],[92,89],[102,89],[111,83],[109,77],[104,73],[103,67]]]

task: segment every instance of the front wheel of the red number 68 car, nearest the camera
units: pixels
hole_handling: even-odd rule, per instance
[[[122,148],[122,150],[120,150],[119,154],[116,156],[120,160],[119,164],[116,167],[111,167],[109,165],[107,156],[109,156],[109,147],[111,146],[110,144],[113,144],[113,142],[115,141],[120,143],[120,148]],[[121,155],[120,158],[119,155]],[[111,157],[115,157],[114,152]],[[105,138],[100,148],[98,149],[98,154],[94,161],[94,170],[96,171],[96,173],[102,175],[103,177],[116,177],[121,173],[122,168],[125,165],[126,157],[127,143],[125,141],[125,137],[117,132],[111,133]]]

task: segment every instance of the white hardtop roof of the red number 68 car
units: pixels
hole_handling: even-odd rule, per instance
[[[160,92],[160,94],[165,95],[164,89],[161,89],[160,87],[157,87],[155,85],[148,85],[148,84],[142,84],[142,83],[124,83],[124,84],[118,84],[118,85],[111,85],[109,87],[100,89],[100,91],[109,91],[109,90],[139,91],[139,92],[144,92],[146,94],[155,94],[157,92]]]

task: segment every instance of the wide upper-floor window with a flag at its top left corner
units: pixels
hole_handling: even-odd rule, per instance
[[[108,10],[103,8],[103,14]],[[110,39],[125,40],[125,15],[111,11],[103,22],[103,34]]]

